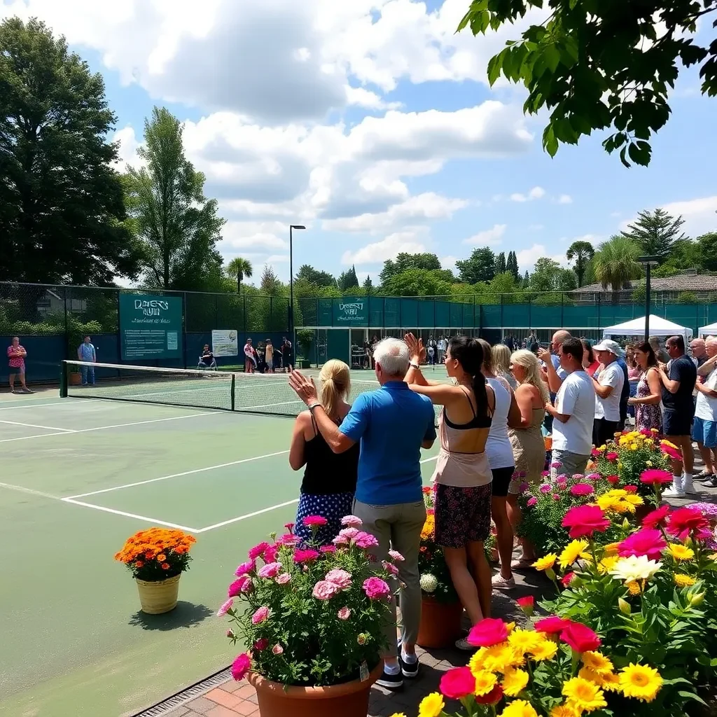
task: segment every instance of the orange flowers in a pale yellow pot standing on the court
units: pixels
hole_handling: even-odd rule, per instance
[[[194,536],[168,528],[149,528],[127,538],[115,560],[124,563],[137,583],[142,612],[169,612],[177,604],[179,578],[189,570]]]

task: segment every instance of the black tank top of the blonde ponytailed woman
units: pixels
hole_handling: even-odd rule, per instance
[[[320,434],[313,416],[311,424],[316,435],[304,446],[306,467],[301,492],[310,495],[356,493],[359,444],[356,443],[343,453],[334,453]]]

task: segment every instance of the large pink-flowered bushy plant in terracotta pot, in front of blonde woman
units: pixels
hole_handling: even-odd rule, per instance
[[[318,529],[326,518],[305,524]],[[248,648],[232,675],[255,687],[262,717],[366,717],[395,599],[388,581],[403,558],[391,551],[372,563],[376,538],[356,516],[343,525],[330,545],[304,546],[289,532],[254,546],[219,608],[229,639]]]

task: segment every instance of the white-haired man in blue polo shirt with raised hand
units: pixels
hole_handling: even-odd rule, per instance
[[[378,683],[399,689],[403,678],[418,675],[416,640],[421,621],[421,586],[418,553],[421,530],[426,520],[421,478],[421,448],[430,448],[436,439],[435,412],[431,399],[414,393],[404,381],[409,349],[404,341],[384,338],[374,349],[376,379],[381,387],[359,394],[340,426],[321,406],[313,381],[300,371],[289,374],[290,386],[309,407],[324,440],[336,453],[361,442],[359,476],[353,513],[364,522],[364,530],[375,536],[371,549],[377,561],[385,560],[389,549],[404,557],[399,562],[402,640],[396,640],[396,604],[393,622],[386,623],[384,674]]]

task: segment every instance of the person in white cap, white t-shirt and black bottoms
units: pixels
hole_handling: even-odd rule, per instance
[[[596,446],[603,446],[619,431],[620,394],[625,374],[617,363],[624,352],[617,341],[604,338],[592,350],[597,354],[600,367],[592,377],[595,387],[595,422],[592,440]]]

